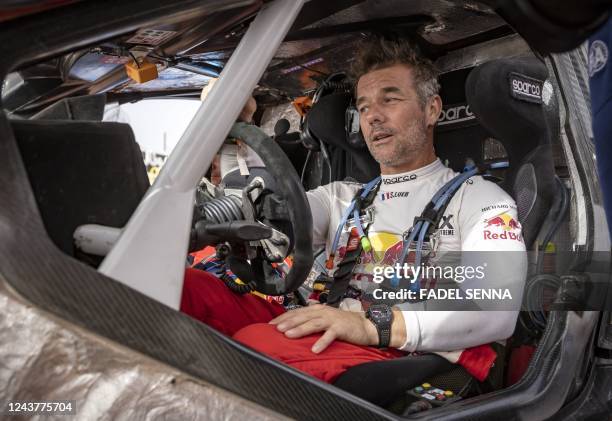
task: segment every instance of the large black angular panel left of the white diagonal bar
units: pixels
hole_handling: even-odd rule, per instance
[[[80,225],[125,226],[149,188],[129,125],[13,120],[11,126],[43,223],[59,249],[75,256],[73,233]]]

